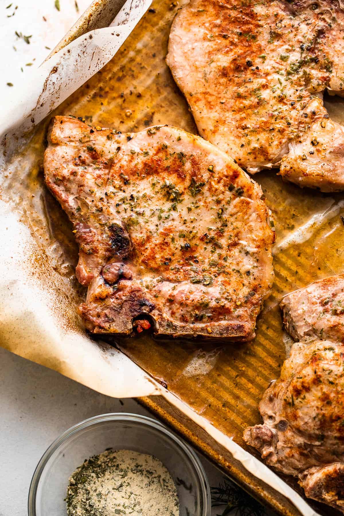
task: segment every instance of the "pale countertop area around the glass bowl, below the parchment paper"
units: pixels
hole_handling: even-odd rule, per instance
[[[132,399],[99,394],[51,369],[0,348],[0,516],[25,516],[35,467],[50,444],[72,425],[107,412],[152,417]],[[202,458],[211,486],[222,474]],[[214,511],[219,513],[219,509]]]

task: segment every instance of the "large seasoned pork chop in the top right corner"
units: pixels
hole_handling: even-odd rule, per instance
[[[344,189],[344,128],[322,91],[344,92],[344,11],[334,0],[190,0],[167,63],[200,134],[250,173]]]

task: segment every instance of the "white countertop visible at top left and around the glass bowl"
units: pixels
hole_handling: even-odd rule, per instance
[[[50,53],[46,47],[54,48],[89,0],[78,0],[79,13],[75,0],[60,0],[60,11],[54,0],[17,0],[6,8],[10,4],[10,0],[2,0],[0,6],[3,99],[9,88],[29,78]],[[29,44],[15,31],[30,36]],[[151,416],[133,399],[104,396],[2,348],[0,392],[0,516],[27,514],[28,489],[35,467],[45,449],[70,426],[107,412]],[[202,462],[210,485],[217,486],[222,474],[207,460]],[[214,509],[214,516],[219,513],[219,508]]]

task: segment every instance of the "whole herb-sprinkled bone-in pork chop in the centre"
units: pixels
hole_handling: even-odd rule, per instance
[[[44,171],[74,226],[87,329],[253,338],[274,233],[232,158],[173,127],[121,134],[55,117]]]

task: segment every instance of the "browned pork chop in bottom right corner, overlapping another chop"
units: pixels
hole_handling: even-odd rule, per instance
[[[263,425],[244,441],[277,470],[297,476],[306,496],[344,512],[343,346],[297,343],[259,404]]]

